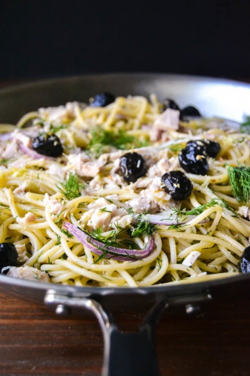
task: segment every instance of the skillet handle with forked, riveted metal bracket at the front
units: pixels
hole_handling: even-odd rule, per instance
[[[195,296],[164,297],[157,301],[144,317],[137,332],[122,332],[114,319],[100,303],[91,298],[66,296],[55,290],[48,290],[44,303],[57,314],[67,315],[71,308],[87,309],[96,316],[104,339],[102,376],[158,376],[155,352],[155,329],[160,314],[169,305],[185,305],[186,313],[195,308],[192,304],[210,299],[206,293]]]

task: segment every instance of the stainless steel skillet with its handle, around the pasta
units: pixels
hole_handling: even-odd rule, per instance
[[[159,99],[171,97],[180,106],[195,105],[204,116],[219,115],[240,121],[249,113],[250,85],[203,77],[161,74],[106,74],[56,79],[5,89],[0,92],[0,123],[15,123],[25,112],[56,106],[67,101],[87,101],[90,96],[109,91],[114,95],[155,93]],[[58,314],[71,310],[92,311],[103,331],[103,375],[156,375],[154,328],[164,308],[180,304],[191,312],[202,301],[213,302],[217,291],[227,287],[235,292],[250,275],[222,280],[147,288],[79,288],[12,279],[0,275],[0,290],[45,303]],[[136,333],[118,330],[109,312],[119,309],[148,310]]]

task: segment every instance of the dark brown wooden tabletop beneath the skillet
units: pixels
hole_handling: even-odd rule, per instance
[[[165,311],[157,329],[160,374],[250,375],[249,291],[248,281],[233,294],[220,289],[200,312]],[[120,312],[116,318],[129,331],[136,330],[142,315]],[[93,316],[62,319],[41,304],[0,293],[0,375],[97,376],[102,351]]]

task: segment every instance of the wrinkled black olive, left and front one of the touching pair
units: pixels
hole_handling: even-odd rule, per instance
[[[206,175],[209,169],[205,155],[199,154],[191,146],[186,146],[180,151],[179,163],[186,172],[196,175]]]

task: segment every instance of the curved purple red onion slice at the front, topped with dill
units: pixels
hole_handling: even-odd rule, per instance
[[[84,244],[91,252],[95,253],[98,256],[102,256],[104,253],[105,258],[112,259],[116,261],[136,261],[144,259],[149,256],[154,248],[155,241],[154,237],[151,235],[147,247],[141,250],[138,249],[125,249],[125,248],[116,248],[112,246],[107,246],[96,239],[91,238],[89,235],[86,235],[76,226],[72,225],[69,222],[64,222],[63,226],[68,230],[68,232],[75,236],[82,244]],[[95,248],[99,247],[99,248]]]

